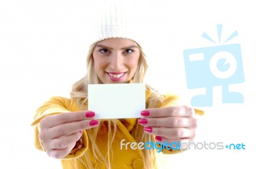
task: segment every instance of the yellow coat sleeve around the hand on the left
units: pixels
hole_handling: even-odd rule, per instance
[[[47,115],[54,115],[54,114],[61,114],[61,113],[68,113],[72,112],[72,101],[67,98],[61,98],[61,97],[52,97],[49,99],[49,101],[45,102],[41,107],[39,107],[36,110],[36,114],[34,117],[34,121],[32,122],[31,126],[34,128],[34,136],[35,136],[35,147],[36,149],[40,151],[45,151],[43,143],[40,141],[38,138],[38,134],[40,132],[40,121],[44,119]],[[79,111],[79,110],[77,110]],[[86,134],[86,131],[83,131],[83,135],[81,136],[83,140],[78,140],[77,142],[82,142],[84,145],[81,149],[76,151],[76,153],[71,153],[68,154],[65,158],[63,159],[72,159],[72,158],[77,158],[79,156],[82,156],[86,149],[88,149],[88,136]],[[80,148],[79,147],[79,148]],[[74,147],[74,149],[77,149],[77,146]],[[73,150],[74,150],[73,149]]]

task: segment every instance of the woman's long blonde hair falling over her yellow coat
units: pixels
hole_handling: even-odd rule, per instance
[[[97,43],[93,43],[89,49],[87,55],[87,74],[81,78],[78,82],[72,85],[72,92],[70,92],[71,98],[74,98],[77,102],[77,105],[81,107],[83,110],[86,108],[84,104],[87,102],[88,98],[88,84],[102,84],[97,74],[95,73],[94,64],[93,64],[93,50]],[[140,59],[138,62],[138,68],[133,77],[133,83],[143,83],[143,78],[145,77],[145,73],[148,69],[148,64],[146,61],[146,55],[143,53],[142,48],[140,48]],[[152,87],[146,85],[146,89],[152,91],[152,94],[147,99],[146,107],[147,108],[157,108],[160,107],[164,102],[164,95],[158,94]],[[100,121],[99,126],[87,129],[86,132],[88,134],[88,139],[90,143],[92,143],[92,152],[94,157],[94,162],[100,165],[106,166],[106,168],[111,168],[111,146],[112,142],[115,138],[116,133],[116,119],[109,119],[107,121]],[[108,154],[105,156],[102,155],[98,145],[95,143],[97,138],[98,131],[101,127],[108,127]],[[143,132],[143,126],[139,125],[136,122],[134,128],[131,131],[131,135],[134,137],[136,142],[156,142],[154,136],[148,135]],[[152,168],[152,166],[156,166],[156,150],[143,149],[144,156],[144,168]],[[94,168],[92,165],[92,161],[89,157],[88,152],[85,152],[84,155],[80,158],[86,168]]]

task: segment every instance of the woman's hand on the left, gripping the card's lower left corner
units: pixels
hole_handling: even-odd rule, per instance
[[[92,111],[68,112],[48,115],[40,121],[39,139],[48,156],[61,159],[72,151],[83,129],[99,124]]]

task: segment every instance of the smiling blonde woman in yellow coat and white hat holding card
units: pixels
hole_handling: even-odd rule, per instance
[[[143,118],[93,118],[97,112],[88,110],[88,84],[144,83],[148,68],[139,41],[124,29],[115,10],[101,18],[98,38],[88,52],[87,74],[72,86],[70,99],[53,97],[36,111],[35,146],[61,159],[65,169],[157,168],[156,149],[120,145],[187,142],[195,137],[195,113],[202,112],[179,105],[177,96],[159,94],[149,85]],[[165,147],[161,152],[179,151]]]

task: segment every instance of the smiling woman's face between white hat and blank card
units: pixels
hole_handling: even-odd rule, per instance
[[[128,83],[140,58],[137,43],[125,38],[99,41],[93,50],[94,68],[103,84]]]

